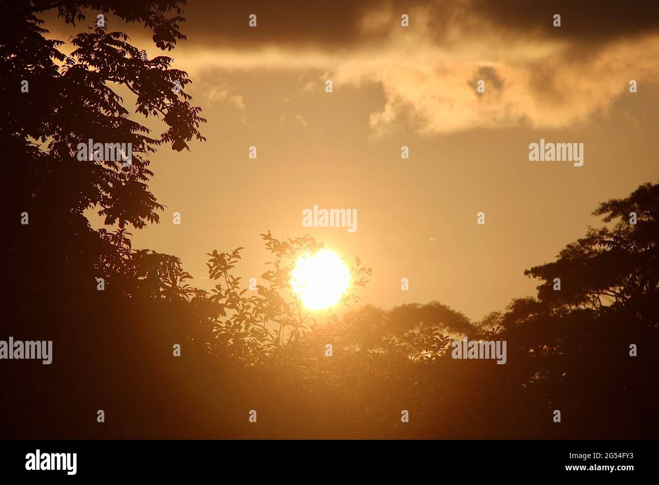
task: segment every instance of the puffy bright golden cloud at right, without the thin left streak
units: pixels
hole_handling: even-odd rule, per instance
[[[565,49],[557,45],[533,55],[509,46],[500,55],[459,57],[424,49],[409,57],[373,58],[358,69],[339,67],[335,84],[380,82],[386,104],[371,116],[372,127],[384,130],[409,115],[426,134],[519,125],[562,128],[606,113],[618,96],[629,95],[631,79],[656,90],[656,36],[611,44],[583,59],[571,58]],[[476,77],[486,81],[486,92],[476,92]]]

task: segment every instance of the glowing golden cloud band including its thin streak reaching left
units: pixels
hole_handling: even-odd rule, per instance
[[[478,39],[455,40],[447,48],[429,42],[424,32],[419,27],[405,37],[393,34],[378,48],[365,46],[349,53],[273,47],[186,50],[181,68],[192,75],[198,69],[261,75],[302,71],[318,79],[326,73],[335,89],[379,84],[384,106],[370,116],[370,126],[379,135],[399,123],[409,123],[425,135],[478,128],[568,127],[606,114],[616,98],[629,95],[631,79],[644,89],[657,87],[656,34],[622,38],[575,57],[572,44],[561,40],[511,41],[490,32]],[[485,81],[486,92],[476,92],[478,79]],[[313,86],[308,83],[302,91]]]

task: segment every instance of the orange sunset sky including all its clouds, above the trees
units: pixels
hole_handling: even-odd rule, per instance
[[[374,269],[361,296],[376,306],[438,300],[480,319],[534,294],[525,269],[599,224],[598,203],[659,175],[658,3],[546,4],[192,0],[188,39],[170,53],[109,16],[110,30],[187,71],[208,119],[206,143],[152,156],[166,209],[131,230],[133,247],[177,255],[210,289],[212,249],[244,246],[238,274],[259,278],[260,233],[308,233]],[[44,18],[53,38],[83,30]],[[583,166],[530,162],[540,139],[583,143]],[[302,227],[314,205],[357,209],[357,231]]]

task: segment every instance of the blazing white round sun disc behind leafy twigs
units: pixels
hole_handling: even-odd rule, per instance
[[[350,271],[328,249],[301,256],[291,272],[293,292],[310,310],[336,304],[350,284]]]

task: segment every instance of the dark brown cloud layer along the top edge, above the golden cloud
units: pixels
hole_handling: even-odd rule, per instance
[[[258,18],[256,28],[248,26],[252,13]],[[410,29],[422,23],[430,26],[427,35],[438,44],[460,42],[447,37],[455,30],[463,38],[494,33],[510,40],[575,41],[575,46],[659,32],[658,0],[189,0],[183,7],[186,22],[181,31],[188,36],[188,44],[196,46],[340,49],[386,40],[399,26],[402,13],[411,16]],[[556,13],[561,15],[560,28],[552,25]],[[362,28],[368,17],[383,14],[389,15],[385,22],[369,30]],[[53,30],[59,30],[56,15],[54,9],[41,15]],[[83,24],[92,23],[92,17]],[[136,25],[117,21],[110,27],[131,36],[150,35]]]

